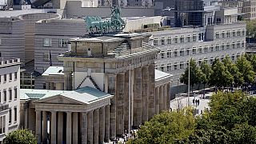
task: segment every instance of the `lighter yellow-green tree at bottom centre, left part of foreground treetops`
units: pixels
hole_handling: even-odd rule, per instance
[[[163,112],[155,115],[138,130],[138,138],[128,143],[174,143],[194,133],[195,120],[191,110]]]

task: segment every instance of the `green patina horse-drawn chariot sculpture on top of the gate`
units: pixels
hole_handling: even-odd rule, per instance
[[[121,10],[118,6],[111,7],[110,20],[102,20],[98,16],[86,17],[86,30],[89,34],[106,34],[110,32],[122,31],[126,22],[121,18]]]

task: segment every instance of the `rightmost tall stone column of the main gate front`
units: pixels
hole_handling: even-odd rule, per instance
[[[148,113],[149,119],[154,117],[155,114],[155,102],[154,102],[154,64],[150,64],[148,68],[150,72],[149,77],[149,101],[148,101]]]

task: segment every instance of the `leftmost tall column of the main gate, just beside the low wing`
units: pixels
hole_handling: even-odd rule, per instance
[[[111,105],[110,105],[110,139],[116,138],[116,74],[109,74],[109,89],[108,92],[114,95],[114,98],[111,98]]]

